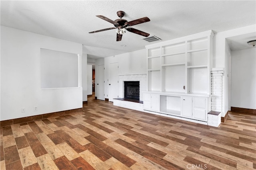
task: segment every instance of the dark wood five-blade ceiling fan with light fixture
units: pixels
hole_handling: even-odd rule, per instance
[[[137,25],[137,24],[140,24],[140,23],[150,21],[150,19],[148,17],[140,18],[140,19],[133,20],[133,21],[127,21],[125,19],[122,19],[122,17],[125,14],[123,11],[118,11],[118,12],[116,12],[116,14],[120,19],[117,19],[117,20],[114,20],[114,21],[110,20],[109,18],[106,18],[105,16],[96,16],[98,18],[101,18],[102,20],[105,20],[105,21],[108,21],[108,22],[114,24],[114,27],[100,29],[100,30],[97,30],[97,31],[89,32],[89,33],[97,33],[97,32],[100,32],[100,31],[106,31],[106,30],[117,28],[117,30],[116,30],[116,33],[117,33],[116,34],[116,41],[121,41],[122,40],[122,35],[125,33],[125,30],[127,30],[129,32],[132,32],[132,33],[136,33],[138,35],[145,36],[145,37],[149,36],[149,33],[145,33],[145,32],[140,31],[138,29],[129,27],[129,26],[132,26],[132,25]],[[127,28],[127,27],[129,27],[129,28]]]

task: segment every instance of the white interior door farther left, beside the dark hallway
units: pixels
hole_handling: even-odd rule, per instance
[[[97,99],[99,100],[105,100],[105,83],[104,83],[104,78],[105,78],[105,72],[104,72],[104,65],[98,65],[98,70],[97,70],[97,78],[96,80],[96,88],[97,88]]]

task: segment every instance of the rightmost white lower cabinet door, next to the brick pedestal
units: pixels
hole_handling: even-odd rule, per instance
[[[197,120],[207,121],[207,99],[206,98],[193,98],[193,118]]]

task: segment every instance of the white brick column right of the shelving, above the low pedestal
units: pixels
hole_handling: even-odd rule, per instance
[[[212,68],[211,71],[211,110],[222,110],[222,98],[223,98],[223,68]]]

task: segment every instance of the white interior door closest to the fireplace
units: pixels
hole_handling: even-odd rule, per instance
[[[108,101],[114,102],[114,98],[118,98],[118,63],[109,64],[109,98]]]

